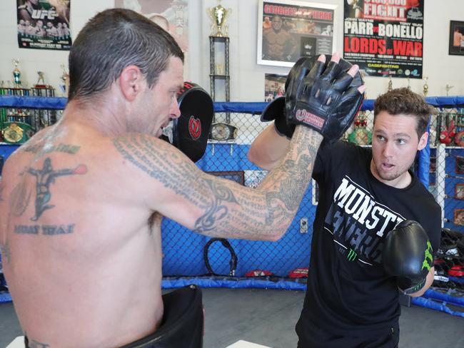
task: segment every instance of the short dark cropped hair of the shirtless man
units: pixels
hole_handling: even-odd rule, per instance
[[[123,68],[140,68],[151,88],[169,58],[183,53],[161,26],[128,9],[96,14],[79,32],[69,53],[69,100],[106,91]]]

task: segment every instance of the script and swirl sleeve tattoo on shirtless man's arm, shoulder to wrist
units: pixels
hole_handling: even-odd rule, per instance
[[[285,232],[296,214],[322,139],[311,129],[300,128],[288,155],[256,189],[207,175],[171,145],[148,135],[123,135],[114,139],[114,145],[126,160],[203,212],[194,223],[194,232],[273,240]]]

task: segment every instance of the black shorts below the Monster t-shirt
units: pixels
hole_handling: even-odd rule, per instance
[[[375,336],[370,335],[337,335],[321,329],[308,319],[300,319],[296,324],[298,348],[398,348],[400,327],[385,328]]]

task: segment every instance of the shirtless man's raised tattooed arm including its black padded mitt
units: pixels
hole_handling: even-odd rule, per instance
[[[362,100],[363,90],[350,86],[352,76],[334,57],[326,64],[322,56],[311,70],[301,65],[289,83],[285,108],[289,124],[297,125],[295,133],[288,152],[258,188],[207,175],[168,143],[135,134],[114,140],[123,158],[139,174],[148,174],[131,175],[134,194],[145,198],[148,208],[204,235],[280,238],[308,188],[323,136],[339,137]]]

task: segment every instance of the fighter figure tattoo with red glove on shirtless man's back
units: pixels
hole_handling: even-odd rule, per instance
[[[85,174],[87,173],[87,166],[80,164],[73,169],[66,168],[54,170],[51,166],[51,159],[47,157],[41,169],[29,168],[27,173],[37,178],[35,201],[36,215],[31,218],[32,221],[37,221],[45,210],[54,208],[54,205],[48,205],[47,203],[49,203],[51,199],[50,185],[55,182],[55,178],[64,175]]]

